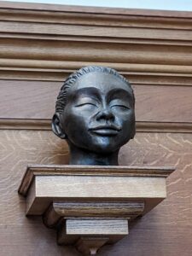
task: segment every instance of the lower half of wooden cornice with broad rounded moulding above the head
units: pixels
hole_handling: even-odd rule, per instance
[[[134,84],[192,84],[191,45],[3,36],[0,79],[61,81],[79,67],[102,65],[118,69]]]

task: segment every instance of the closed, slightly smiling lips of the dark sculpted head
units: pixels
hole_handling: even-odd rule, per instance
[[[102,136],[115,136],[121,129],[114,125],[101,125],[94,128],[90,128],[89,131]]]

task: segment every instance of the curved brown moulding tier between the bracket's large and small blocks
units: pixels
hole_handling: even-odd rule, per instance
[[[55,227],[64,218],[136,218],[144,210],[144,202],[127,201],[86,201],[86,202],[59,202],[54,201],[48,210],[44,212],[44,224],[47,227]]]

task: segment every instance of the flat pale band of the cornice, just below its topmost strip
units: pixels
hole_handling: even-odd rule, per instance
[[[131,26],[90,26],[90,25],[71,25],[71,24],[49,24],[44,22],[23,22],[0,20],[0,32],[16,32],[31,34],[53,34],[65,36],[86,36],[86,37],[107,37],[107,38],[148,38],[164,39],[177,41],[191,41],[192,32],[186,29],[156,29],[148,27]],[[107,32],[107,33],[106,33]],[[115,35],[115,36],[114,36]]]

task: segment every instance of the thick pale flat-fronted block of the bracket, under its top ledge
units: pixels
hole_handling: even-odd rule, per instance
[[[35,176],[26,197],[26,215],[42,215],[52,201],[74,199],[134,202],[144,199],[144,214],[165,198],[165,177]]]

